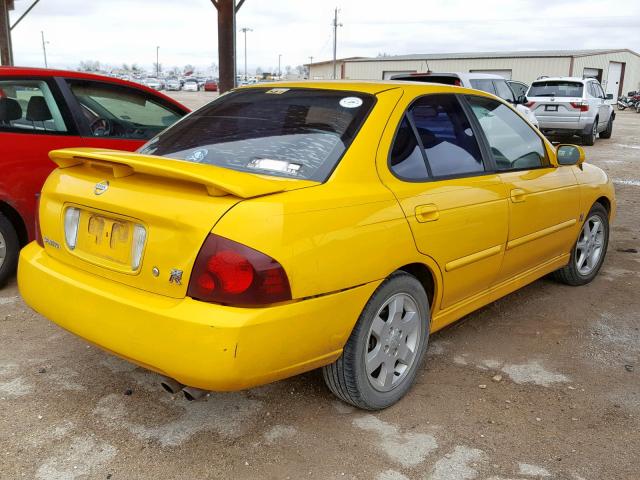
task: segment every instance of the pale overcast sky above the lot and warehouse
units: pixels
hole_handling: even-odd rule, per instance
[[[15,0],[12,22],[32,0]],[[628,48],[640,53],[638,0],[246,0],[249,71],[275,71],[338,57],[413,53]],[[210,0],[41,0],[13,30],[16,65],[77,68],[97,60],[151,70],[217,63],[217,13]],[[238,71],[244,37],[238,33]]]

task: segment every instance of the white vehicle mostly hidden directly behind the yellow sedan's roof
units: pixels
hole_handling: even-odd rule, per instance
[[[458,87],[474,88],[483,92],[492,93],[509,102],[524,118],[537,127],[538,120],[533,112],[524,103],[526,99],[519,97],[500,75],[490,73],[410,73],[391,77],[392,80],[408,80],[412,82],[443,83]]]

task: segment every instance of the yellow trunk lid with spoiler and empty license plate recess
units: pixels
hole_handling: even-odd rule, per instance
[[[52,257],[101,277],[183,298],[216,222],[243,199],[317,185],[163,157],[97,149],[50,153],[40,199]]]

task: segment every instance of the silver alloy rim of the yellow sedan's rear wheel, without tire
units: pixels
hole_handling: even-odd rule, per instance
[[[369,329],[365,366],[371,386],[380,392],[397,387],[420,348],[421,321],[416,300],[398,293],[378,310]]]

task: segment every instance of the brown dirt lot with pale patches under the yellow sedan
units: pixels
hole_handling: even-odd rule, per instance
[[[434,335],[417,385],[384,412],[336,401],[317,372],[188,403],[32,312],[12,282],[0,478],[637,480],[638,133],[640,115],[621,113],[587,148],[617,183],[600,276],[540,280]]]

